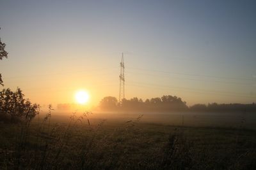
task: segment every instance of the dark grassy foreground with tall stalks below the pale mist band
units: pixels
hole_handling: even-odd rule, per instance
[[[45,118],[0,124],[1,169],[255,169],[256,132]]]

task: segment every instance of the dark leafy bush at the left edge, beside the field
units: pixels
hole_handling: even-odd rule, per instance
[[[0,92],[0,119],[4,122],[20,122],[25,118],[32,119],[39,113],[40,106],[24,99],[22,90],[15,92],[3,89]]]

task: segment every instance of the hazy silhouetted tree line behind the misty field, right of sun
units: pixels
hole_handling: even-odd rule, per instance
[[[104,97],[99,104],[102,111],[148,111],[148,112],[170,112],[170,111],[256,111],[256,104],[194,104],[188,106],[177,96],[154,97],[152,99],[122,99],[118,102],[116,97]]]

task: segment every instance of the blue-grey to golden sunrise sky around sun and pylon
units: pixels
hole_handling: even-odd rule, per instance
[[[119,95],[195,103],[256,101],[255,1],[4,1],[4,87],[33,103],[96,106]]]

